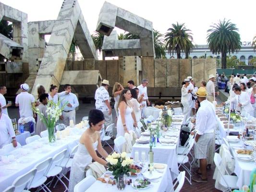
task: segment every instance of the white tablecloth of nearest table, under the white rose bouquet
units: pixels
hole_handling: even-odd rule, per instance
[[[170,171],[168,171],[168,166],[165,165],[165,169],[163,169],[163,176],[155,181],[158,182],[151,182],[150,187],[148,189],[143,190],[143,192],[172,192],[173,185],[171,180]],[[136,178],[131,177],[132,180]],[[91,185],[85,192],[117,192],[118,189],[116,185],[102,183],[101,181],[97,180],[94,184]],[[136,191],[132,185],[126,185],[122,192],[134,192]]]

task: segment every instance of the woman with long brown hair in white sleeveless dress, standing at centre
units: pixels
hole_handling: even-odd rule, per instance
[[[133,122],[134,126],[137,127],[137,121],[134,114],[134,110],[132,104],[130,102],[132,98],[131,92],[129,89],[122,90],[118,109],[119,109],[119,116],[117,119],[117,136],[124,136],[124,133],[129,133],[130,130],[133,130]]]

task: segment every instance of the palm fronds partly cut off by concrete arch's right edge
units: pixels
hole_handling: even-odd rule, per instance
[[[154,48],[156,58],[166,58],[165,56],[165,44],[163,42],[163,34],[161,34],[158,30],[153,31],[154,35]]]

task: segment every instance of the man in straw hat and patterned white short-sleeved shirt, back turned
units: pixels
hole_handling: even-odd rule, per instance
[[[101,110],[105,118],[105,128],[112,124],[112,108],[110,106],[110,94],[108,92],[109,81],[103,80],[101,86],[95,92],[95,107]],[[116,136],[116,128],[113,126],[112,137]]]

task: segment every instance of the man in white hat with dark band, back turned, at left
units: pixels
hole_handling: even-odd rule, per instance
[[[16,96],[15,106],[20,109],[20,117],[33,117],[32,105],[35,102],[35,97],[28,93],[28,84],[21,84],[21,93]]]

